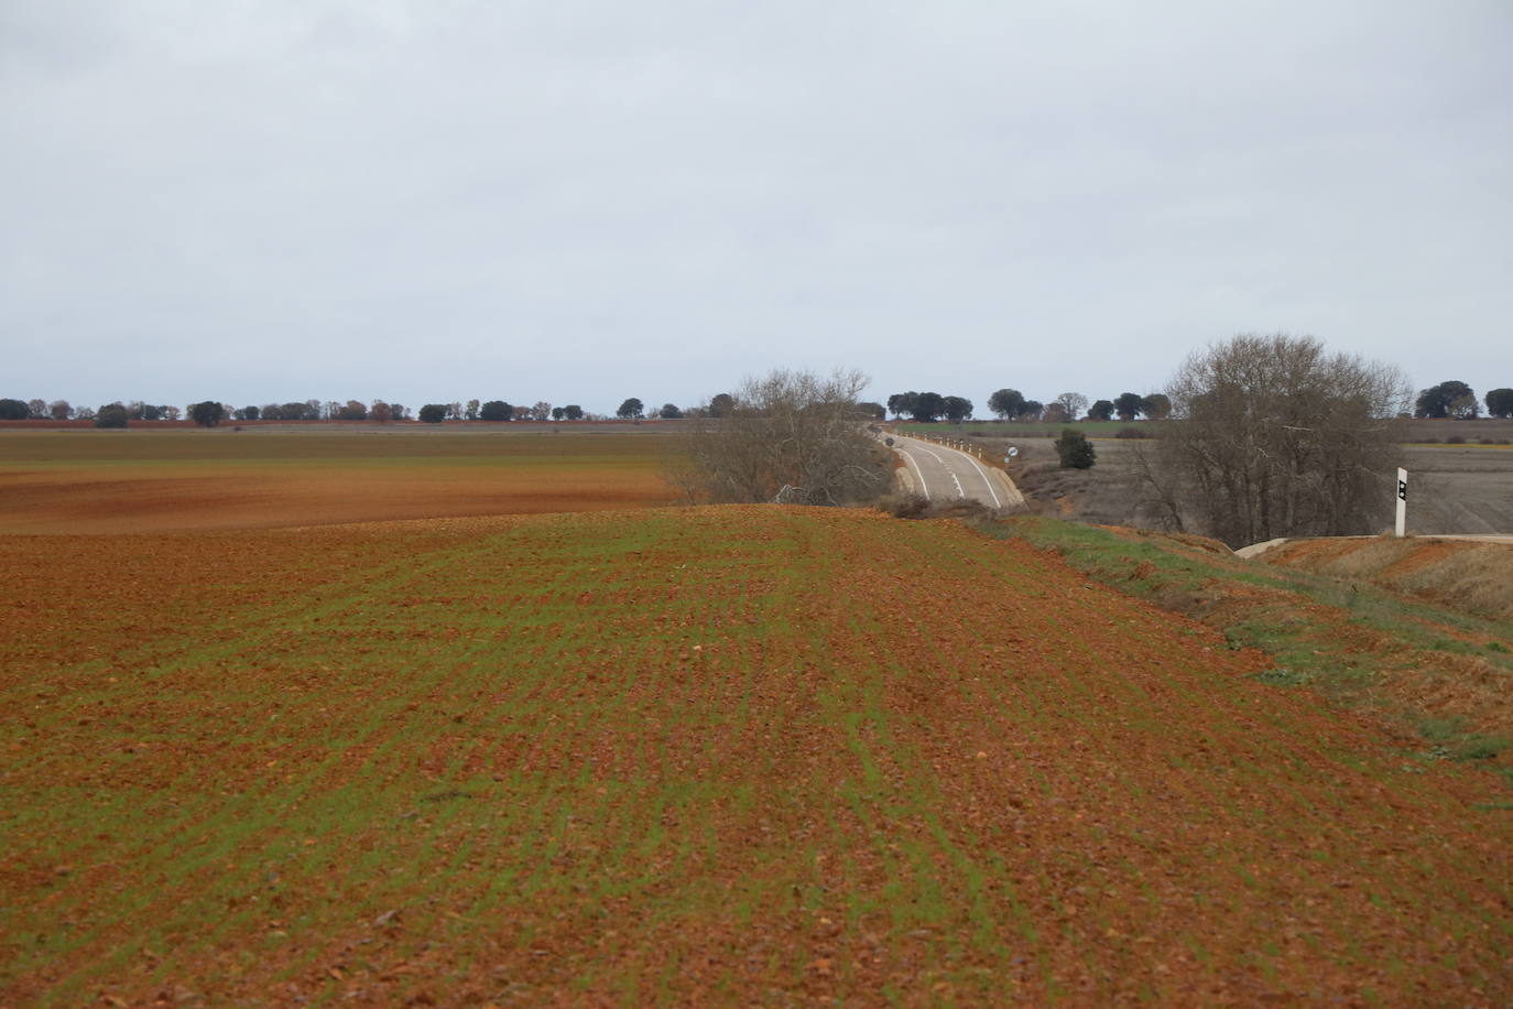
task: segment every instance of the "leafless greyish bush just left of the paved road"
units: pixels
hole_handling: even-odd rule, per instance
[[[747,378],[720,416],[710,410],[681,436],[675,473],[690,499],[840,505],[881,493],[885,455],[858,421],[859,372],[775,371]]]

